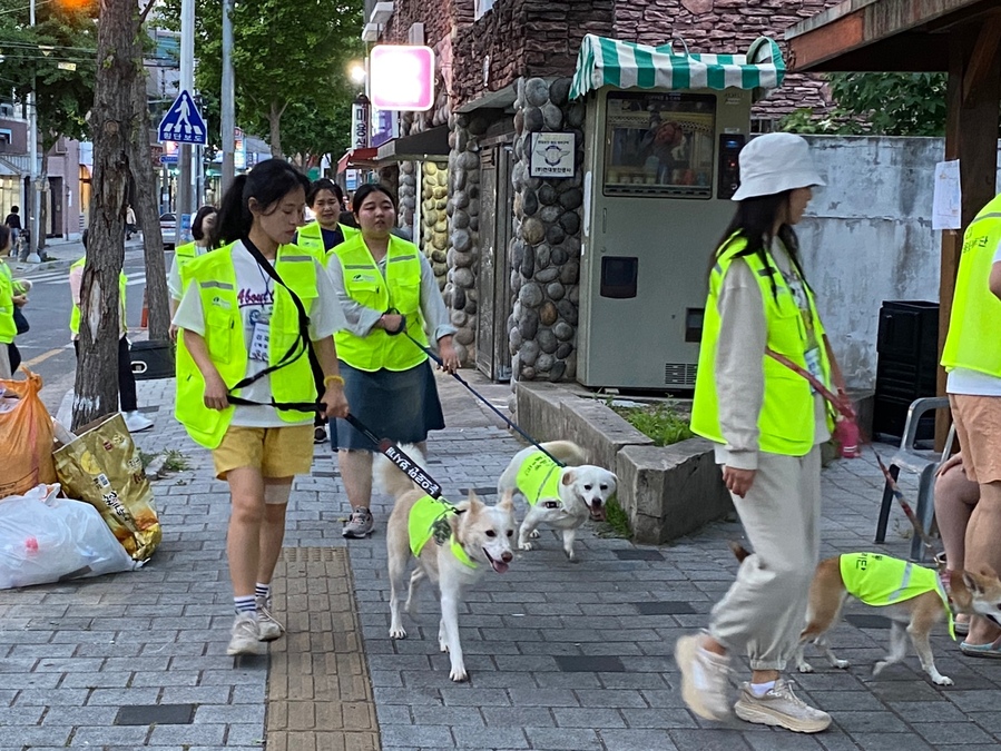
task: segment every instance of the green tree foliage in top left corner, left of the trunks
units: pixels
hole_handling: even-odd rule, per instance
[[[23,0],[0,0],[0,81],[18,99],[35,91],[42,149],[61,137],[88,137],[97,78],[96,0],[39,3],[29,26]],[[63,66],[60,68],[60,63]],[[76,70],[67,67],[76,66]]]

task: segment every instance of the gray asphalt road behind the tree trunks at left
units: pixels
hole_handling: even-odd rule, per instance
[[[73,253],[59,253],[61,259],[79,257],[82,247]],[[169,268],[173,254],[165,254]],[[49,266],[49,268],[45,268]],[[53,267],[55,266],[55,267]],[[143,291],[146,285],[146,267],[143,248],[126,247],[125,254],[126,308],[129,329],[138,329],[143,315]],[[37,269],[14,270],[14,276],[31,279],[24,317],[31,325],[27,334],[18,337],[23,365],[42,377],[42,401],[52,414],[59,408],[66,392],[73,387],[77,358],[69,333],[69,315],[72,307],[69,294],[69,266],[66,263],[42,265]]]

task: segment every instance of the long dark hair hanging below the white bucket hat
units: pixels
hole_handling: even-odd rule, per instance
[[[768,257],[768,248],[772,245],[772,240],[775,239],[773,235],[775,220],[778,218],[783,208],[788,206],[791,192],[792,190],[784,190],[783,192],[772,194],[771,196],[755,196],[754,198],[745,198],[739,201],[734,218],[730,219],[726,231],[724,231],[723,237],[719,238],[719,243],[716,246],[716,250],[713,253],[713,257],[709,259],[709,273],[713,273],[713,267],[716,265],[719,254],[726,248],[727,240],[734,235],[739,235],[747,240],[747,247],[734,257],[757,256],[758,260],[760,260],[762,265],[765,267],[765,270],[768,271],[768,283],[772,285],[772,297],[773,299],[778,299],[778,286],[775,284],[775,276],[779,274],[779,270],[772,265]],[[803,265],[799,263],[799,239],[796,237],[793,227],[783,224],[778,228],[778,239],[782,240],[782,244],[788,251],[793,266],[796,267],[796,271],[799,274],[799,278],[803,279],[803,284],[808,288],[809,284],[806,281],[806,275],[803,273]]]

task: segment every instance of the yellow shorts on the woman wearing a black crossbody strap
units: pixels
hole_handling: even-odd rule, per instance
[[[216,477],[229,470],[255,467],[263,477],[306,475],[313,467],[313,425],[245,427],[230,425],[212,452]]]

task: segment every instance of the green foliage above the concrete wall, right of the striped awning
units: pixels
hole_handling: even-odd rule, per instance
[[[834,108],[824,116],[798,109],[782,130],[803,134],[942,136],[945,134],[944,73],[832,73]]]

